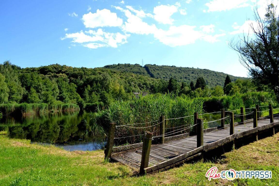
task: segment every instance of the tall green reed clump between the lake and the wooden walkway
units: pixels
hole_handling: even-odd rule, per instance
[[[193,127],[184,131],[182,129],[185,127],[191,127],[191,125],[194,124],[194,117],[191,116],[194,112],[203,113],[202,98],[191,99],[186,96],[177,96],[175,94],[155,94],[139,98],[134,97],[128,101],[117,101],[111,104],[107,110],[99,109],[98,112],[93,113],[92,119],[102,126],[108,126],[110,122],[114,122],[117,126],[120,126],[116,129],[116,138],[132,136],[121,138],[116,140],[116,142],[135,143],[142,140],[143,136],[138,135],[142,135],[143,131],[151,131],[153,132],[153,136],[159,135],[160,125],[157,120],[159,120],[161,115],[165,115],[165,119],[167,119],[165,123],[165,133],[169,132],[167,136],[171,136],[173,133],[175,133],[174,135],[177,135],[190,132]],[[191,117],[173,119],[185,116]],[[129,127],[121,125],[128,125]],[[173,127],[177,128],[167,129]],[[177,130],[178,132],[174,130]]]

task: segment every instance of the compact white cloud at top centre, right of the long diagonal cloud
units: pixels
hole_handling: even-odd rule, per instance
[[[174,5],[159,5],[153,9],[154,19],[159,23],[172,24],[174,19],[170,18],[175,12],[177,12],[177,6]]]

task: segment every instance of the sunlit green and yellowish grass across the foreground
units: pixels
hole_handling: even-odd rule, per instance
[[[278,185],[279,133],[261,139],[214,162],[183,166],[142,177],[120,163],[104,162],[103,151],[69,152],[54,146],[30,144],[28,140],[9,139],[0,132],[0,185]],[[272,179],[208,181],[208,168],[219,170],[271,170]]]

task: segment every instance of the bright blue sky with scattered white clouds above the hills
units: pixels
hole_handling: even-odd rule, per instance
[[[255,4],[263,16],[265,0],[1,1],[0,62],[102,67],[143,59],[246,77],[227,43],[248,33]]]

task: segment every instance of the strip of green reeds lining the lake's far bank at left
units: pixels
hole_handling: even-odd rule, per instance
[[[0,104],[0,113],[3,115],[29,115],[56,111],[77,111],[80,108],[76,104],[56,103],[48,105],[46,103],[6,103]]]

